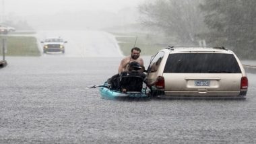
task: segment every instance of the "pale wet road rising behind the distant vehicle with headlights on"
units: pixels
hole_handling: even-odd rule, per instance
[[[50,30],[38,31],[36,38],[61,37],[65,44],[65,57],[122,57],[115,36],[102,31]],[[38,44],[42,52],[42,44]]]

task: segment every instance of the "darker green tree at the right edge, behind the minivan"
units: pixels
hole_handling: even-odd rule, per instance
[[[204,22],[210,28],[204,35],[208,41],[231,46],[240,57],[255,57],[256,1],[205,0],[200,7],[205,12]]]

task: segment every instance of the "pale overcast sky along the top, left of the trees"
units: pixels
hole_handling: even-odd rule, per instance
[[[144,0],[0,0],[1,13],[18,15],[56,13],[59,11],[107,10],[117,12],[124,7],[137,7]],[[5,5],[3,11],[3,3]]]

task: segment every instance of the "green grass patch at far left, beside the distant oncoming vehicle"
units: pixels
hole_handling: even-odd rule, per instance
[[[0,54],[2,55],[2,38],[0,38]],[[7,42],[7,53],[6,56],[40,56],[36,38],[33,36],[8,36]]]

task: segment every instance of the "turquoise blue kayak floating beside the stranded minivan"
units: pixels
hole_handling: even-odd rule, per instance
[[[150,98],[147,94],[145,94],[145,89],[142,89],[141,92],[119,92],[117,90],[113,90],[109,88],[108,83],[104,83],[100,88],[100,95],[104,99],[108,100],[120,100],[125,98],[139,99],[139,98]]]

